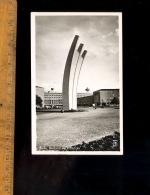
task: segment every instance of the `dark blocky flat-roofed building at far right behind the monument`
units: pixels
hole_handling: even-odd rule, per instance
[[[97,106],[110,105],[114,97],[119,98],[119,89],[100,89],[94,91],[93,96]]]

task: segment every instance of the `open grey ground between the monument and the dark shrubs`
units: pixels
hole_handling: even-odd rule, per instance
[[[85,112],[37,112],[37,146],[69,147],[119,131],[119,111],[84,108]]]

